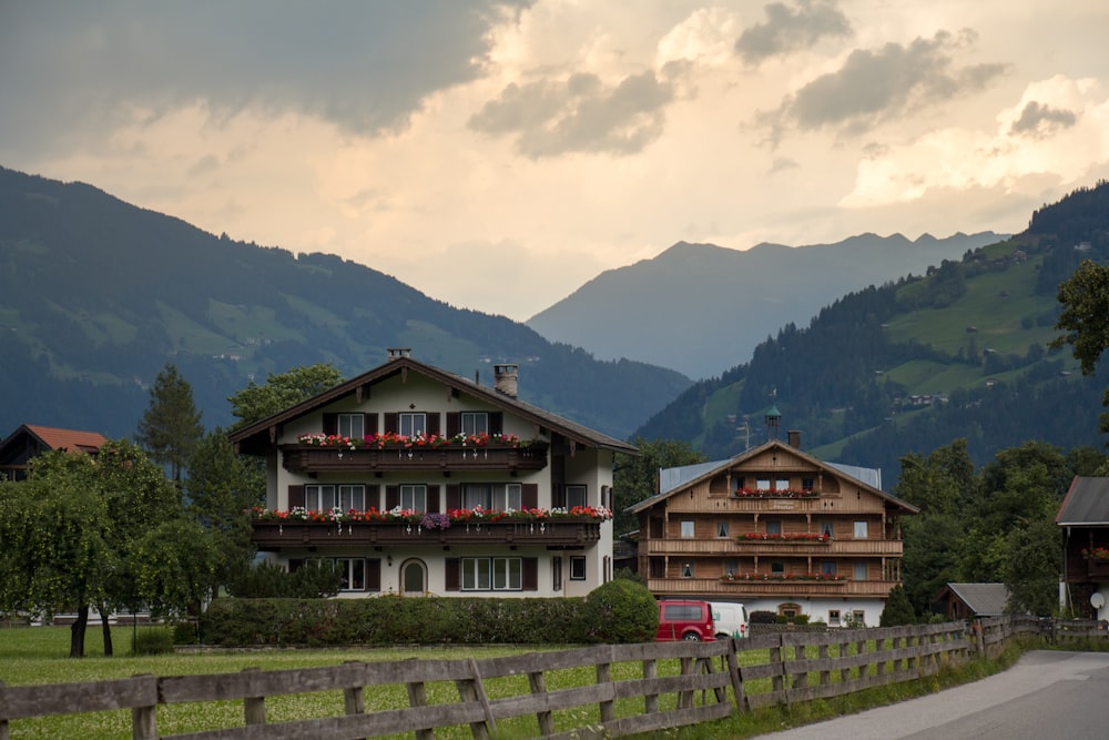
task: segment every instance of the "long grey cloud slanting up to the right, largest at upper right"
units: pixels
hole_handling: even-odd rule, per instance
[[[979,91],[1007,65],[957,67],[954,57],[974,42],[973,31],[946,31],[908,44],[853,51],[836,72],[797,90],[767,120],[775,126],[841,129],[857,134],[893,118]]]

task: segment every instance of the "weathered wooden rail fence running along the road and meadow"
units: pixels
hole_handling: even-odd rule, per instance
[[[1103,622],[1099,629],[1105,636]],[[444,728],[464,728],[461,732],[484,740],[506,724],[512,737],[614,738],[920,678],[946,662],[986,655],[1020,633],[1042,635],[1042,624],[999,617],[981,620],[970,630],[959,621],[716,642],[597,646],[480,660],[413,659],[44,686],[0,683],[0,740],[10,739],[11,720],[119,709],[131,710],[135,740],[343,740],[413,733],[416,740],[433,740]],[[584,685],[560,679],[558,685],[571,688],[548,688],[550,677],[573,670],[596,678]],[[510,677],[515,678],[503,680]],[[452,685],[458,700],[429,701],[429,687],[436,685]],[[383,687],[404,687],[407,706],[367,711],[366,691],[376,693]],[[267,722],[268,699],[322,691],[342,691],[343,714]],[[242,702],[243,727],[159,733],[159,707],[226,701]],[[582,721],[586,714],[589,718]]]

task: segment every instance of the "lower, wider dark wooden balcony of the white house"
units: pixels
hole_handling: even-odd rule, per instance
[[[429,529],[409,521],[288,521],[255,519],[251,541],[261,550],[283,547],[377,547],[384,545],[554,545],[588,546],[601,538],[601,521],[560,517],[452,523]]]

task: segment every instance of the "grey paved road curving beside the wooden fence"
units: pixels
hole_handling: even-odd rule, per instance
[[[1034,650],[997,676],[767,740],[1103,740],[1109,653]]]

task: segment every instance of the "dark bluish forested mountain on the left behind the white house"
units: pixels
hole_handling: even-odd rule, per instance
[[[599,362],[505,317],[454,308],[369,267],[216,237],[90,185],[0,168],[0,435],[42,424],[130,436],[173,363],[203,423],[227,425],[251,378],[318,362],[347,377],[411,347],[520,398],[625,438],[690,385]]]

